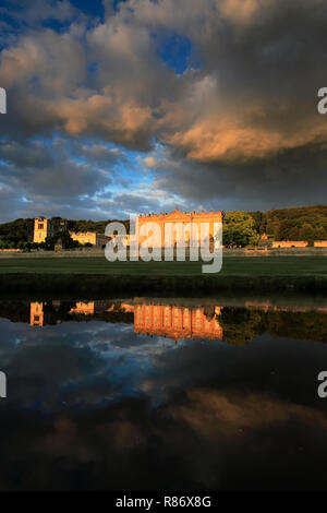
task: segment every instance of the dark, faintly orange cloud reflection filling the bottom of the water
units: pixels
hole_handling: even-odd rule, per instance
[[[263,394],[195,387],[152,411],[140,397],[82,415],[26,415],[24,446],[19,423],[8,426],[2,489],[17,464],[25,489],[325,487],[324,413]]]

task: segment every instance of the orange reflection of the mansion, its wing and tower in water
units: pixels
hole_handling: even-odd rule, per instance
[[[69,310],[71,315],[96,315],[112,312],[117,306],[109,301],[77,301]],[[157,335],[179,338],[222,339],[222,327],[217,314],[220,307],[184,307],[174,305],[145,305],[122,302],[118,307],[122,313],[134,313],[134,332],[142,335]],[[50,313],[45,311],[44,302],[31,303],[31,325],[44,326],[50,323]],[[61,322],[60,320],[57,322]]]

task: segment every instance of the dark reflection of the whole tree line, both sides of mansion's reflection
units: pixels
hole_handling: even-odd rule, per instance
[[[93,313],[78,313],[74,300],[39,300],[44,313],[44,324],[62,322],[108,322],[133,324],[134,313],[125,311],[120,302],[96,302]],[[12,322],[29,323],[29,301],[0,301],[0,317]],[[211,306],[204,307],[204,314],[210,321],[215,317]],[[229,344],[247,344],[262,333],[278,337],[302,341],[327,342],[327,314],[322,311],[264,311],[237,307],[223,307],[216,314],[223,331],[223,339]]]

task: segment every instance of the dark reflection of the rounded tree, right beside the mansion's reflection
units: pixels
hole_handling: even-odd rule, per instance
[[[263,312],[259,310],[225,307],[217,320],[222,327],[223,339],[229,344],[249,344],[263,332]]]

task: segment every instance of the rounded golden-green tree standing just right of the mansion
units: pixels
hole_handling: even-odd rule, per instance
[[[246,212],[229,212],[223,218],[222,243],[225,246],[257,244],[259,235],[255,220]]]

